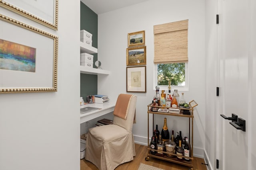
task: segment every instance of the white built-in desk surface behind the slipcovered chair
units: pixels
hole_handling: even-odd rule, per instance
[[[80,124],[114,111],[115,105],[116,105],[116,102],[109,102],[105,104],[94,103],[94,104],[86,104],[86,105],[80,106],[80,108],[84,108],[84,107],[100,108],[99,110],[91,111],[88,113],[83,113],[83,114],[80,113]]]

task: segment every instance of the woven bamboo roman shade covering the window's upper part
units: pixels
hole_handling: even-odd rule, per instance
[[[188,20],[154,25],[154,64],[188,62]]]

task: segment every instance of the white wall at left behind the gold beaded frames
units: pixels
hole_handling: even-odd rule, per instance
[[[59,1],[58,31],[0,13],[59,37],[58,92],[0,94],[0,170],[79,170],[80,0]]]

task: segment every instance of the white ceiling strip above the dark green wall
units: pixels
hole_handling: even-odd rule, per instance
[[[96,14],[103,14],[126,6],[139,4],[147,0],[80,0]]]

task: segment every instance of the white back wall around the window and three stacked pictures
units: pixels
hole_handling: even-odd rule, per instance
[[[147,145],[147,105],[155,94],[154,32],[153,26],[188,19],[188,83],[186,100],[195,100],[194,111],[194,155],[203,156],[205,141],[205,20],[204,0],[149,0],[98,15],[98,60],[102,68],[110,70],[108,76],[98,76],[98,93],[116,100],[118,94],[126,93],[126,48],[128,33],[145,30],[146,51],[146,93],[138,96],[136,107],[137,123],[133,126],[134,139]],[[161,90],[161,89],[160,89]],[[172,89],[174,90],[174,89]],[[180,92],[181,94],[181,92]],[[155,124],[161,129],[164,116],[156,116]],[[188,136],[188,119],[167,117],[168,129],[182,131]],[[152,125],[152,115],[150,115]],[[152,126],[150,127],[150,137]]]

